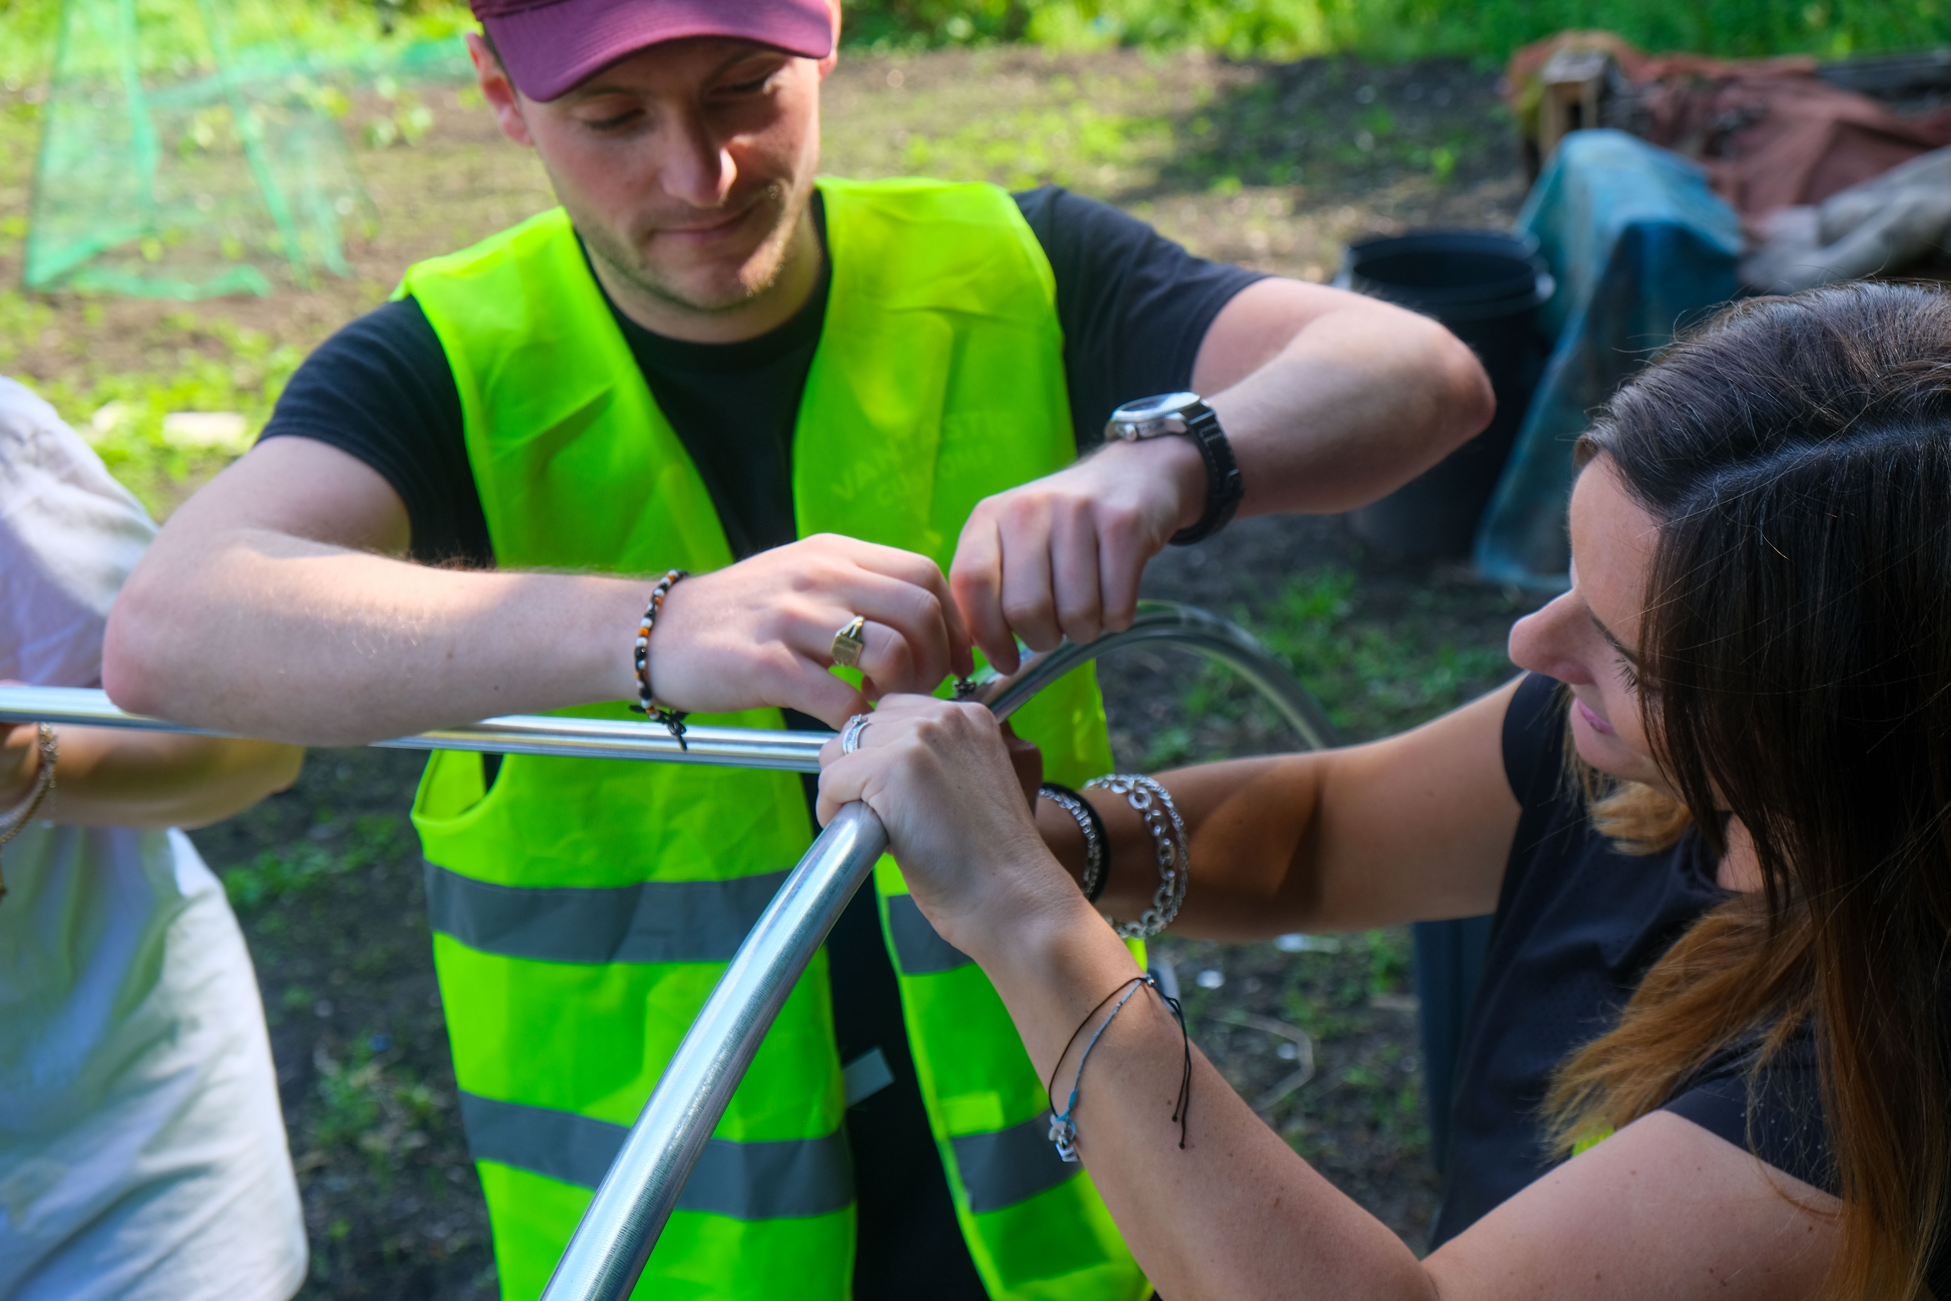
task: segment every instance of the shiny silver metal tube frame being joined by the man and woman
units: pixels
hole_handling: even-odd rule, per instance
[[[1171,601],[1141,601],[1128,630],[1089,646],[1063,644],[1032,655],[1016,673],[979,683],[974,698],[1009,718],[1071,669],[1145,642],[1198,651],[1233,667],[1266,694],[1307,749],[1338,743],[1321,706],[1247,630]],[[62,687],[0,687],[0,722],[222,735],[125,714],[100,690]],[[691,728],[687,747],[679,747],[663,728],[642,722],[511,714],[375,745],[817,772],[819,747],[829,739],[831,733],[823,731],[700,726]],[[886,847],[880,819],[866,806],[849,804],[786,876],[644,1102],[562,1252],[542,1301],[624,1301],[630,1295],[759,1042]]]

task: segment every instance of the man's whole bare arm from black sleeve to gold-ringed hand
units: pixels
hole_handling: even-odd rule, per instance
[[[636,700],[632,634],[654,577],[410,564],[400,495],[310,439],[271,439],[183,503],[109,614],[103,685],[139,714],[363,745],[498,714]],[[669,562],[665,562],[669,564]],[[866,692],[833,634],[868,620]],[[882,690],[972,667],[927,558],[816,536],[677,583],[650,681],[681,710],[804,710],[829,724]]]

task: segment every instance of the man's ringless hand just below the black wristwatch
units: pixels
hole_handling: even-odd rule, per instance
[[[1204,503],[1206,464],[1176,437],[1110,443],[981,501],[948,572],[976,644],[1015,673],[1018,636],[1042,651],[1124,632],[1145,564]]]

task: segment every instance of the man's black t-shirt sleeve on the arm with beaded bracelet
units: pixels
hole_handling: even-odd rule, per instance
[[[304,359],[259,441],[277,437],[316,439],[373,466],[406,503],[414,560],[494,564],[455,373],[412,298],[367,312]]]

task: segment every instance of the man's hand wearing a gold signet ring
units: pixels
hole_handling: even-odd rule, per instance
[[[829,673],[833,634],[856,614],[864,692]],[[827,532],[671,587],[648,669],[657,700],[679,710],[773,704],[839,728],[882,692],[927,694],[974,659],[933,560]]]

